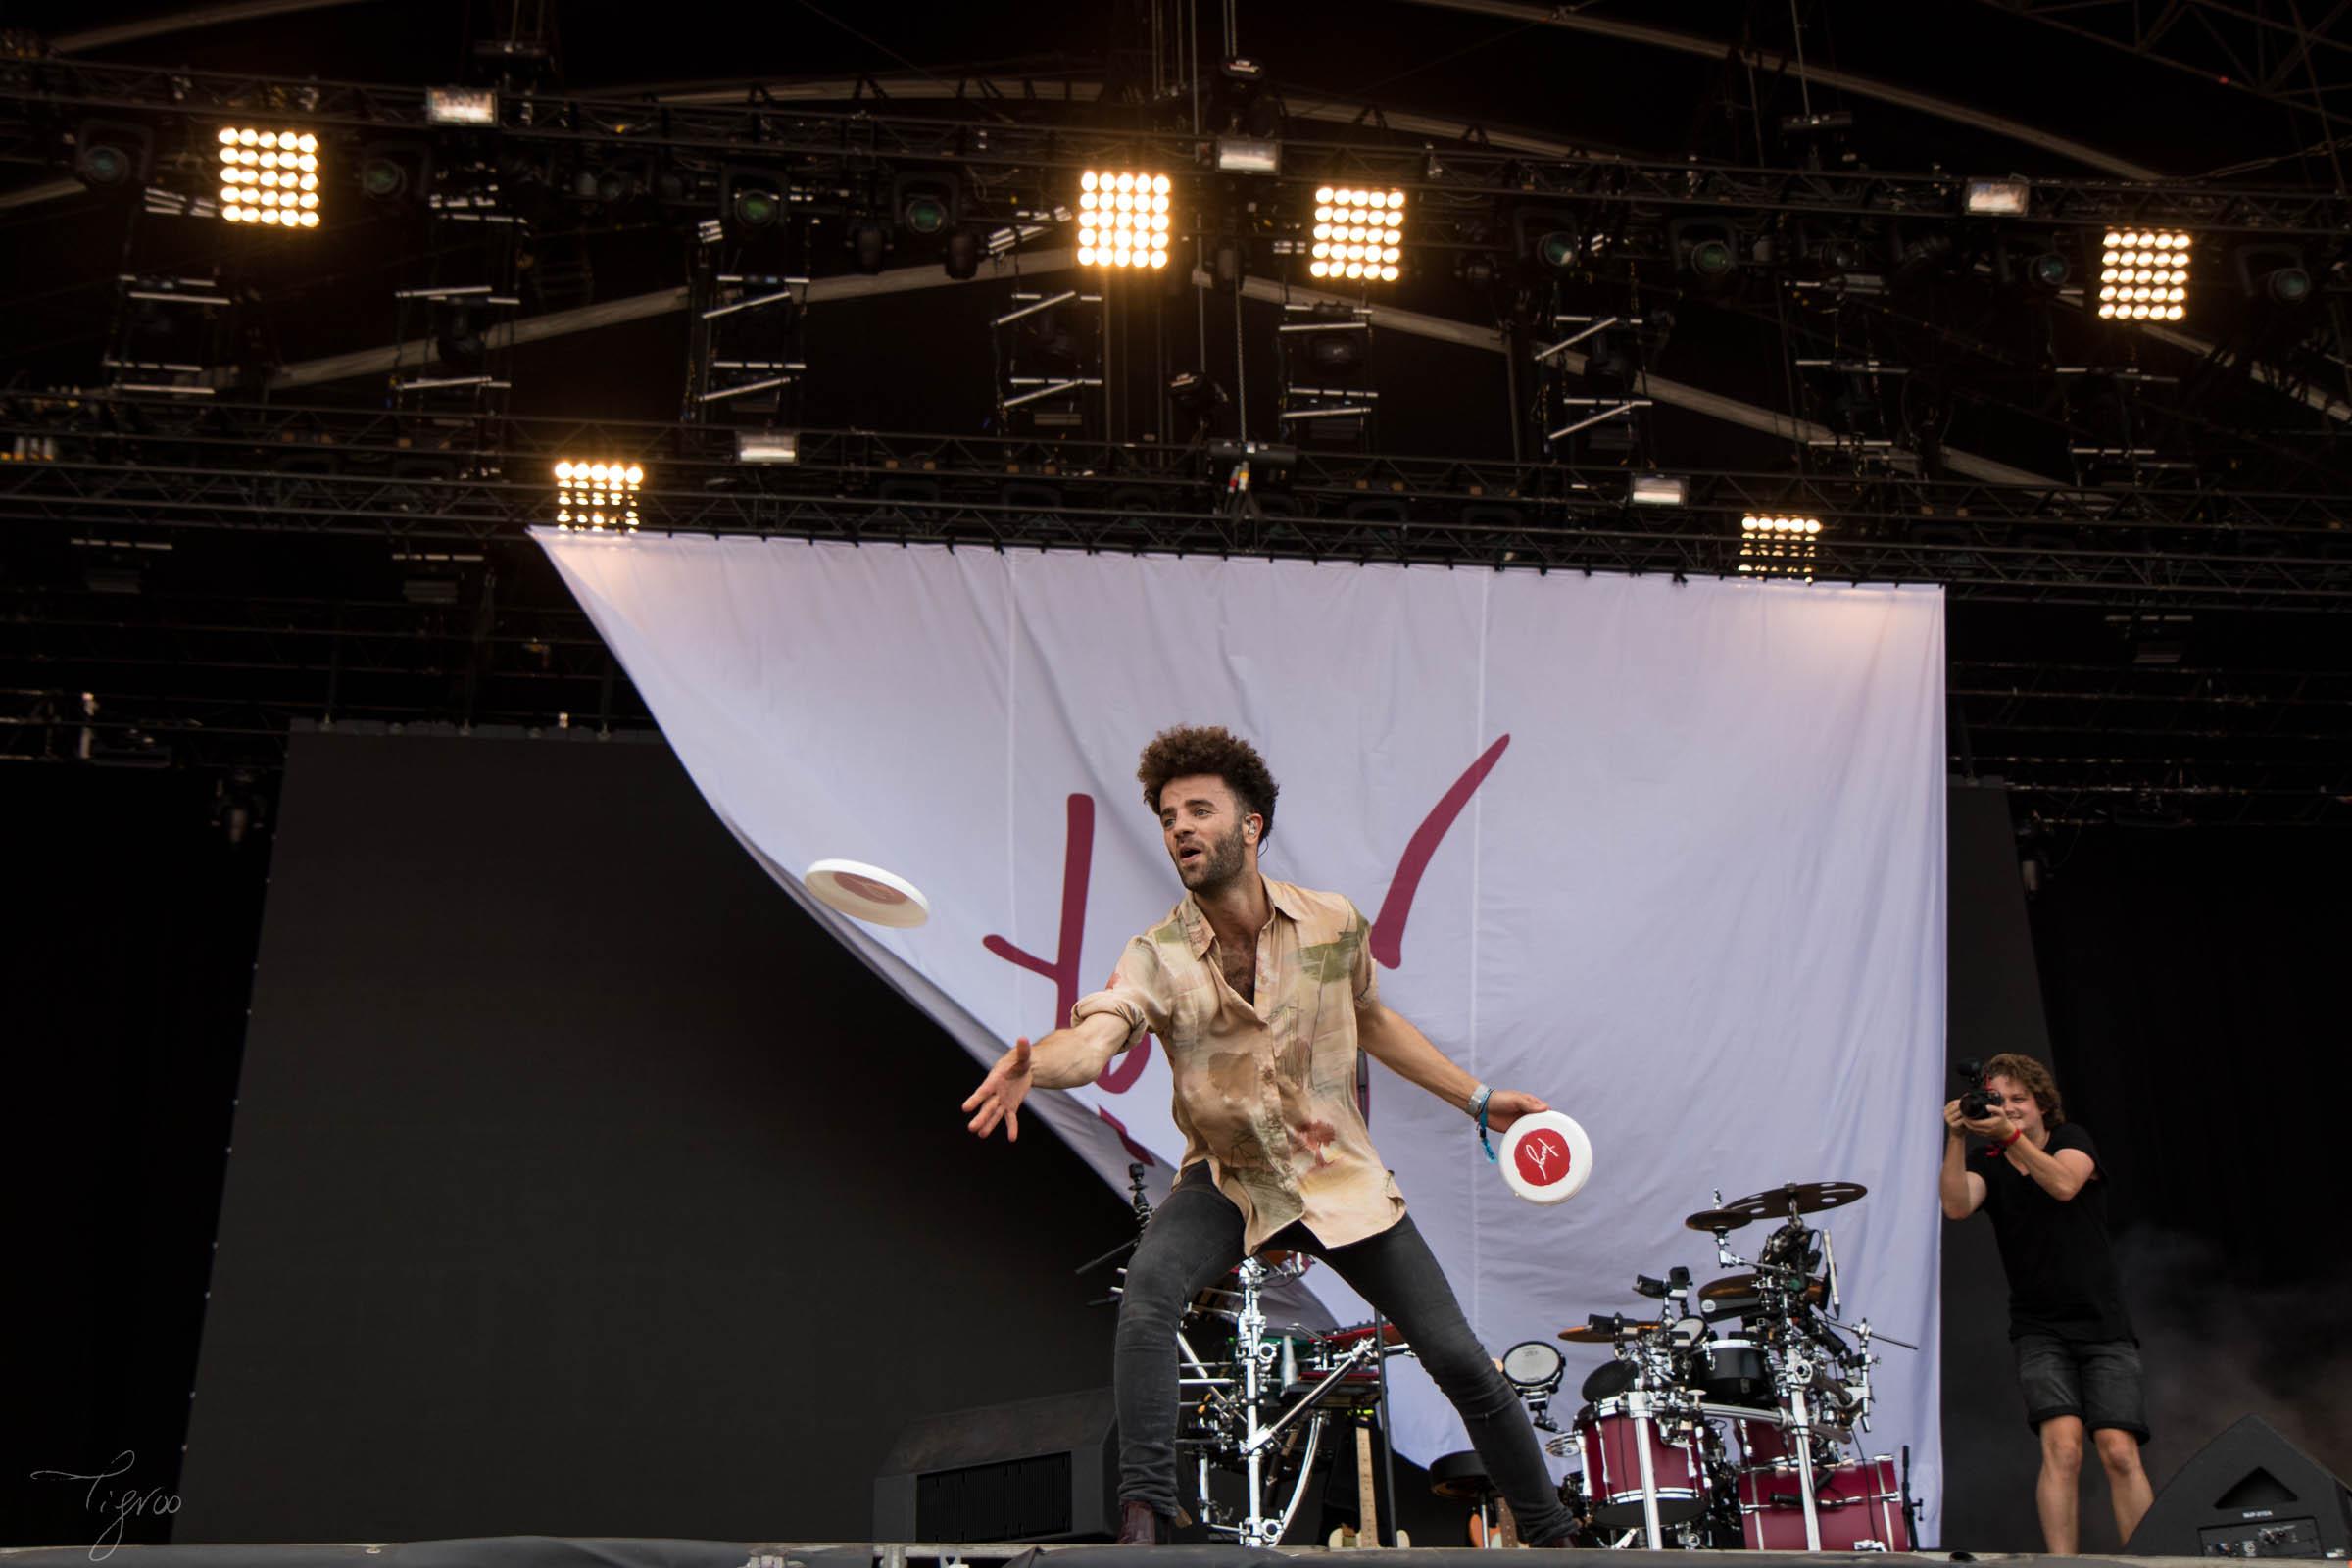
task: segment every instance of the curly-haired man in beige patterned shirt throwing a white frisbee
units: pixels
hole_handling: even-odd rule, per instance
[[[1322,1258],[1383,1312],[1461,1410],[1519,1533],[1571,1528],[1510,1385],[1479,1347],[1355,1098],[1357,1051],[1489,1126],[1548,1110],[1486,1088],[1381,1004],[1371,922],[1338,893],[1258,875],[1279,792],[1265,759],[1216,726],[1169,729],[1136,769],[1183,900],[1127,943],[1105,990],[1070,1025],[1014,1048],[964,1100],[971,1131],[1018,1135],[1030,1088],[1089,1084],[1145,1032],[1167,1046],[1176,1190],[1127,1267],[1112,1363],[1120,1413],[1120,1540],[1169,1537],[1176,1516],[1176,1321],[1183,1305],[1261,1248]]]

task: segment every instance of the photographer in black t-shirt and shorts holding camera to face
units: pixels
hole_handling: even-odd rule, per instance
[[[2114,1528],[2129,1542],[2150,1505],[2140,1469],[2147,1413],[2091,1133],[2065,1119],[2058,1081],[2030,1056],[1985,1063],[1980,1086],[1943,1107],[1943,1215],[1987,1211],[2009,1274],[2025,1422],[2042,1434],[2042,1542],[2051,1554],[2077,1547],[2084,1429],[2098,1443]],[[1990,1140],[1976,1157],[1969,1133]]]

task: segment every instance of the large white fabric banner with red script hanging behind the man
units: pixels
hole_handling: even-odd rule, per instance
[[[779,882],[807,898],[797,872],[844,856],[924,889],[917,931],[823,919],[978,1060],[1065,1020],[1183,893],[1143,743],[1256,741],[1268,875],[1355,898],[1390,1006],[1592,1133],[1592,1182],[1538,1208],[1461,1112],[1374,1070],[1374,1140],[1489,1349],[1644,1307],[1635,1272],[1724,1274],[1682,1227],[1717,1190],[1865,1182],[1828,1215],[1846,1314],[1919,1345],[1884,1349],[1865,1443],[1910,1446],[1940,1537],[1938,590],[539,541]],[[1157,1044],[1030,1105],[1122,1190],[1131,1150],[1164,1190],[1183,1147]],[[1604,1354],[1566,1349],[1562,1415]],[[1465,1446],[1418,1371],[1395,1403],[1399,1453]]]

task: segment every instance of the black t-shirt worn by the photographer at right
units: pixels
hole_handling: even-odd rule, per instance
[[[2053,1126],[2042,1150],[2082,1150],[2098,1171],[2091,1133],[2072,1121]],[[2009,1338],[2133,1340],[2107,1246],[2107,1175],[2098,1171],[2058,1201],[2004,1154],[1971,1154],[1969,1168],[1985,1178],[1985,1213],[2009,1272]]]

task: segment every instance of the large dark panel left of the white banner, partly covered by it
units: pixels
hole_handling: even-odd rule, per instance
[[[299,738],[174,1537],[866,1535],[1108,1366],[1131,1218],[957,1056],[661,748]]]

